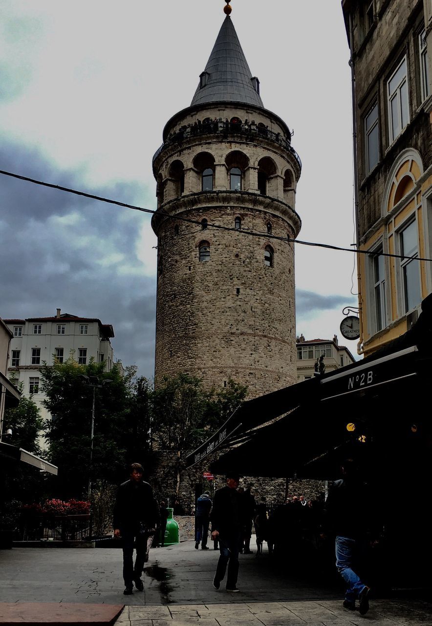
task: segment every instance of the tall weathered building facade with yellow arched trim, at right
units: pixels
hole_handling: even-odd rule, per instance
[[[342,7],[354,85],[358,352],[369,356],[411,328],[432,292],[432,3]]]

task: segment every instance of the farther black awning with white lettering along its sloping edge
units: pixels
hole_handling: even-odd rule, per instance
[[[254,428],[279,418],[300,404],[309,403],[318,389],[319,380],[309,379],[246,401],[216,433],[186,457],[186,467],[199,463],[218,448],[227,448],[239,438],[248,438]]]

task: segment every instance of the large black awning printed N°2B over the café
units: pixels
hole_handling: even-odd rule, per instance
[[[367,454],[371,441],[389,456],[401,454],[401,442],[408,445],[410,438],[421,439],[424,433],[429,437],[427,416],[418,418],[413,407],[422,390],[427,397],[431,373],[432,356],[412,346],[316,378],[319,390],[309,403],[246,433],[243,443],[233,438],[231,449],[210,469],[216,474],[230,470],[246,476],[324,480],[334,477],[347,454]]]

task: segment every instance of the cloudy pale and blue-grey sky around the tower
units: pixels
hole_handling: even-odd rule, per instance
[[[190,105],[224,0],[0,0],[0,170],[156,209],[154,152]],[[298,239],[349,248],[349,48],[339,0],[232,0],[265,108],[303,170]],[[156,237],[150,216],[0,175],[0,316],[56,309],[112,324],[114,355],[152,377]],[[354,254],[296,244],[296,331],[341,337]],[[354,295],[353,295],[354,294]]]

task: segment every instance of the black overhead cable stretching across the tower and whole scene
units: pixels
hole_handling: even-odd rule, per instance
[[[201,222],[198,220],[189,220],[187,217],[181,217],[180,215],[171,215],[171,213],[166,213],[160,210],[151,210],[150,208],[136,207],[136,205],[128,204],[127,202],[119,202],[119,200],[111,200],[111,198],[103,198],[101,196],[94,195],[93,193],[80,192],[76,189],[69,189],[68,187],[62,187],[61,185],[53,185],[53,183],[45,183],[42,180],[36,180],[35,178],[29,178],[27,176],[22,176],[20,174],[15,174],[13,172],[5,172],[4,170],[0,170],[0,174],[4,176],[10,176],[12,178],[18,178],[19,180],[25,180],[28,183],[34,183],[34,185],[41,185],[43,187],[50,187],[51,189],[57,189],[61,192],[66,193],[74,193],[75,195],[83,196],[84,198],[90,198],[91,200],[98,200],[98,202],[107,202],[108,204],[115,204],[118,207],[131,208],[134,211],[141,211],[142,213],[151,213],[152,215],[161,215],[163,217],[173,218],[178,220],[179,222],[188,222],[191,224],[197,224],[201,226]],[[330,245],[330,244],[318,244],[316,242],[303,241],[301,239],[291,239],[290,237],[278,237],[278,235],[269,234],[267,232],[256,232],[253,230],[246,230],[245,228],[230,228],[229,226],[221,226],[219,224],[211,224],[207,223],[207,228],[216,228],[217,230],[228,230],[237,233],[242,233],[243,235],[251,235],[251,237],[265,237],[266,239],[276,239],[279,241],[285,241],[293,244],[301,244],[301,245],[310,245],[312,247],[324,248],[328,250],[339,250],[341,252],[354,252],[355,254],[367,254],[373,257],[391,257],[393,259],[407,259],[407,260],[417,260],[417,261],[429,261],[432,262],[432,259],[427,259],[423,257],[407,257],[401,254],[390,254],[389,252],[369,252],[369,250],[355,250],[353,248],[342,248],[338,245]]]

